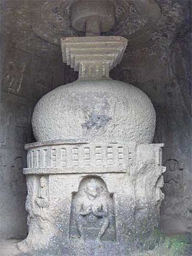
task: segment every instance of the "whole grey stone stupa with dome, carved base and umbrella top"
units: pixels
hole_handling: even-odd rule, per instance
[[[158,240],[163,144],[152,144],[155,110],[139,88],[109,78],[127,39],[101,36],[115,5],[77,1],[71,25],[85,37],[61,38],[77,81],[43,96],[27,144],[28,237],[40,255],[127,255]],[[39,255],[38,254],[38,255]],[[35,255],[35,254],[33,254]]]

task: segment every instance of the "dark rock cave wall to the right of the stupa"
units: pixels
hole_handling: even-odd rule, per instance
[[[168,4],[169,2],[169,4]],[[161,18],[154,41],[125,52],[113,78],[139,87],[152,100],[157,123],[154,143],[164,143],[161,228],[192,228],[191,172],[191,1],[158,1]],[[164,19],[165,20],[165,19]]]

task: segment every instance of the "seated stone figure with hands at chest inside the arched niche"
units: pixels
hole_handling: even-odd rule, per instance
[[[78,209],[76,216],[76,224],[80,234],[80,238],[85,240],[84,227],[86,224],[94,224],[98,219],[101,221],[101,228],[97,235],[97,240],[101,237],[109,226],[109,214],[107,202],[101,197],[103,187],[95,183],[94,179],[84,188],[85,195],[78,200]]]

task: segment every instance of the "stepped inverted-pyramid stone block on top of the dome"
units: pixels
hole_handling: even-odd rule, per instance
[[[107,72],[121,62],[126,47],[124,37],[61,38],[62,60],[79,71],[79,78],[108,78]]]

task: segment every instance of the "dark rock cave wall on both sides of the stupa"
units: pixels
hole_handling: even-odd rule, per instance
[[[26,2],[26,1],[24,1]],[[151,35],[129,44],[111,77],[148,94],[157,113],[154,143],[163,142],[165,200],[161,227],[191,230],[191,1],[157,1],[161,19]],[[26,234],[24,145],[34,141],[32,110],[44,94],[77,79],[62,64],[59,46],[32,31],[23,1],[2,1],[0,230]]]

